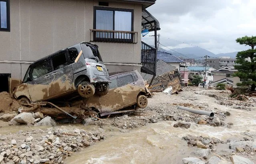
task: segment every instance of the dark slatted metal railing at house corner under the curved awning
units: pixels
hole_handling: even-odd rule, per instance
[[[155,72],[156,49],[141,41],[141,64]]]

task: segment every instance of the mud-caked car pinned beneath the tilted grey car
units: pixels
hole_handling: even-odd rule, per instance
[[[86,105],[100,116],[135,111],[147,107],[148,91],[138,71],[113,73],[110,76],[109,92],[104,96],[94,95]],[[129,110],[125,108],[129,107]],[[120,111],[121,109],[124,109]]]

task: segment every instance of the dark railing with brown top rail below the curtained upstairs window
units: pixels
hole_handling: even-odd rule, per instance
[[[138,43],[138,32],[90,29],[91,41]]]

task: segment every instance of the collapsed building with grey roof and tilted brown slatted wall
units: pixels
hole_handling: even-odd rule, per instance
[[[146,87],[149,91],[163,91],[167,87],[172,87],[172,93],[179,91],[182,88],[182,81],[179,71],[176,67],[173,67],[164,61],[157,59],[157,71],[156,77],[153,78],[153,75],[147,73],[141,73],[141,77],[145,81]],[[153,81],[151,82],[151,79]],[[149,86],[149,83],[152,83]]]

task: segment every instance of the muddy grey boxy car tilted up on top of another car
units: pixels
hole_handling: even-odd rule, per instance
[[[84,98],[106,95],[109,74],[98,46],[82,42],[32,63],[14,97],[23,103],[45,101],[73,92]]]

